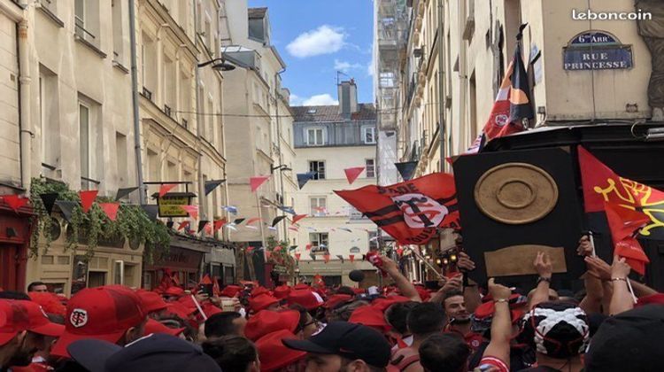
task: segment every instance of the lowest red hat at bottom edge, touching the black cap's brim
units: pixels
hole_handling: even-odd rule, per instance
[[[277,330],[260,337],[256,341],[256,347],[259,349],[260,355],[260,370],[271,372],[303,359],[306,355],[305,352],[291,349],[282,343],[284,339],[296,338],[292,332],[286,329]]]

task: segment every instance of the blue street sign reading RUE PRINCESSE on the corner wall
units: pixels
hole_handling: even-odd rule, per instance
[[[606,31],[575,35],[563,48],[563,69],[567,71],[619,70],[632,66],[631,45],[622,44]]]

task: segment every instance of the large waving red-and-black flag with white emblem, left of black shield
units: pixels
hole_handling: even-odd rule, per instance
[[[335,191],[399,244],[427,244],[436,228],[459,226],[452,174],[434,173],[390,186]]]

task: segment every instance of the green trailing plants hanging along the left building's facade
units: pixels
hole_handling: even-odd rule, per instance
[[[30,253],[38,256],[40,236],[43,238],[44,250],[48,252],[52,243],[50,224],[56,221],[46,213],[42,204],[40,194],[58,193],[58,200],[80,202],[78,192],[69,190],[63,182],[47,182],[41,178],[33,178],[30,190],[30,203],[35,209],[36,221],[33,234],[30,238]],[[112,202],[110,198],[97,198],[97,202]],[[93,255],[100,240],[112,240],[124,237],[129,241],[144,243],[144,257],[151,262],[155,254],[165,252],[170,242],[168,228],[161,221],[151,221],[150,217],[143,211],[140,205],[120,205],[118,216],[111,221],[104,210],[93,204],[88,213],[83,213],[81,205],[73,208],[71,221],[67,224],[71,234],[66,234],[66,248],[72,249],[79,245],[82,240],[88,245],[87,254]]]

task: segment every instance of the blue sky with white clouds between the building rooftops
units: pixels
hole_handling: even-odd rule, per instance
[[[372,0],[249,0],[249,6],[269,8],[291,105],[335,105],[337,70],[355,78],[359,102],[374,102]]]

